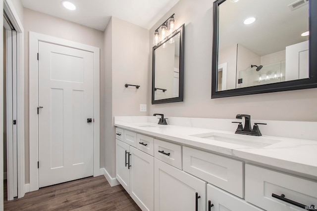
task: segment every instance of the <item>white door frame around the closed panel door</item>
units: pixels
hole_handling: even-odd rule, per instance
[[[30,140],[30,191],[39,189],[38,130],[38,45],[49,42],[66,47],[92,52],[94,54],[94,176],[100,175],[100,48],[72,42],[48,35],[29,32],[29,140]],[[39,55],[41,57],[41,55]]]

